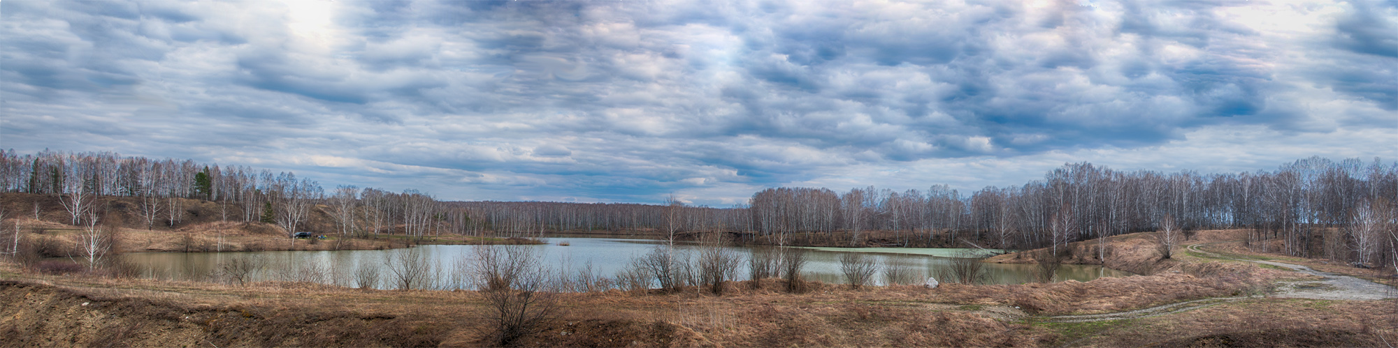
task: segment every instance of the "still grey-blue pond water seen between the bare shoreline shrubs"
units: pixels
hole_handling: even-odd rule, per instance
[[[559,244],[569,245],[559,245]],[[650,239],[618,239],[618,238],[552,238],[545,245],[528,245],[541,256],[542,264],[559,270],[575,273],[579,269],[591,267],[603,277],[612,277],[618,271],[629,267],[637,256],[651,252],[660,242]],[[471,258],[474,248],[499,248],[481,245],[422,245],[417,249],[435,264],[442,267],[442,277],[449,277],[457,260]],[[679,255],[689,253],[698,256],[699,246],[691,244],[677,244]],[[745,246],[730,246],[747,260],[752,249]],[[879,267],[903,267],[920,280],[937,276],[946,269],[953,256],[970,249],[949,248],[804,248],[807,249],[807,266],[802,276],[807,280],[821,280],[825,283],[843,283],[839,258],[847,252],[863,252],[870,255]],[[383,267],[387,256],[396,251],[320,251],[320,252],[236,252],[236,253],[124,253],[122,259],[144,269],[144,277],[168,280],[210,280],[221,262],[236,258],[256,258],[264,267],[253,273],[253,281],[287,280],[295,277],[295,269],[312,269],[319,271],[319,281],[336,285],[354,285],[355,270],[359,267]],[[1035,264],[1002,264],[984,263],[987,284],[1019,284],[1035,281]],[[387,271],[380,271],[386,274]],[[1131,273],[1106,269],[1093,264],[1062,264],[1058,269],[1057,280],[1089,281],[1097,277],[1125,277]],[[747,280],[747,262],[737,269],[737,278]],[[877,284],[884,284],[882,271],[874,276]],[[443,280],[447,281],[447,280]],[[918,281],[917,284],[921,284]],[[382,284],[377,287],[383,287]]]

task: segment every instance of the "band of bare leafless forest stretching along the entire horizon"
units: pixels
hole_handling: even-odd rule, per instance
[[[733,232],[777,244],[863,241],[891,245],[976,241],[1042,248],[1110,235],[1243,228],[1248,245],[1367,266],[1398,259],[1398,163],[1310,157],[1272,171],[1114,171],[1071,163],[1043,180],[965,195],[946,185],[896,192],[874,187],[769,188],[734,207],[565,202],[440,202],[408,189],[337,187],[294,173],[110,152],[0,152],[0,189],[57,196],[73,224],[95,216],[96,196],[137,198],[147,227],[175,226],[180,199],[221,202],[231,219],[294,234],[310,213],[340,234],[542,235],[545,232]]]

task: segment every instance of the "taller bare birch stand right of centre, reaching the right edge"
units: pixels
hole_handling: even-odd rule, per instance
[[[895,245],[980,241],[1057,248],[1111,235],[1248,230],[1254,248],[1366,264],[1398,259],[1398,164],[1310,157],[1237,174],[1116,171],[1069,163],[1015,187],[928,191],[769,188],[752,196],[751,230],[776,239],[891,234]]]

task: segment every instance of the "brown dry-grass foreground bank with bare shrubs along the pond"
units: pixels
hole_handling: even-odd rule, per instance
[[[1215,242],[1232,234],[1206,231],[1199,238]],[[1144,232],[1107,241],[1113,249],[1107,262],[1156,253],[1137,244],[1155,237]],[[1078,253],[1089,245],[1067,248]],[[1394,303],[1387,303],[1392,301],[1267,298],[1274,281],[1299,276],[1183,252],[1172,259],[1155,256],[1153,273],[1142,276],[1008,285],[944,283],[937,288],[793,280],[783,269],[793,267],[790,259],[798,256],[773,252],[772,260],[740,260],[776,264],[773,273],[756,280],[671,273],[674,285],[660,288],[622,287],[617,285],[622,274],[589,276],[582,269],[538,273],[537,258],[519,246],[481,248],[489,255],[457,264],[425,263],[411,255],[415,249],[391,252],[397,258],[387,263],[396,271],[383,274],[334,276],[333,270],[298,273],[288,267],[278,270],[288,277],[254,283],[148,280],[81,269],[42,273],[4,263],[0,333],[11,334],[0,334],[0,345],[1057,347],[1079,340],[1149,345],[1268,337],[1278,340],[1269,342],[1274,345],[1381,345],[1384,337],[1398,337],[1392,329],[1398,316],[1391,310]],[[656,267],[679,273],[692,267],[684,266],[686,262],[664,266],[665,252],[657,251],[651,259]],[[1033,255],[1037,251],[1018,259]],[[712,259],[721,263],[726,258]],[[703,267],[695,266],[696,271]],[[651,271],[628,273],[646,284],[665,276]],[[424,273],[452,281],[412,283],[431,278],[412,276]],[[295,274],[341,280],[319,284],[291,277]],[[415,285],[370,290],[358,277]],[[1162,317],[1095,324],[1047,319],[1250,295],[1257,298]],[[1211,324],[1180,319],[1186,316]],[[1227,320],[1251,324],[1220,324]]]

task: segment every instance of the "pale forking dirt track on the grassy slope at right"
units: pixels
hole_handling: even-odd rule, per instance
[[[1279,288],[1276,288],[1276,292],[1269,294],[1268,296],[1310,298],[1310,299],[1353,299],[1353,301],[1398,298],[1398,290],[1394,290],[1392,287],[1384,284],[1343,274],[1318,271],[1311,267],[1300,264],[1227,258],[1219,253],[1202,251],[1199,249],[1199,245],[1202,244],[1190,245],[1187,246],[1187,249],[1191,252],[1208,255],[1209,258],[1271,264],[1271,266],[1290,269],[1303,274],[1321,277],[1321,280],[1278,283]],[[1179,303],[1169,303],[1163,306],[1153,306],[1128,312],[1102,313],[1102,315],[1075,315],[1075,316],[1046,316],[1046,317],[1037,317],[1037,320],[1054,322],[1054,323],[1089,323],[1089,322],[1106,322],[1106,320],[1123,320],[1123,319],[1141,319],[1141,317],[1173,315],[1248,298],[1254,296],[1205,298],[1205,299],[1186,301]]]

